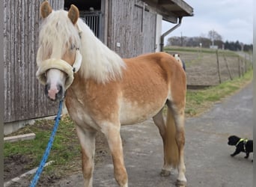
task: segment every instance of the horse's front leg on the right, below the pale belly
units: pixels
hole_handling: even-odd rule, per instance
[[[119,186],[128,186],[127,170],[124,165],[124,153],[120,135],[120,123],[108,123],[103,129],[109,143],[109,149],[112,153],[112,160],[114,165],[115,180]]]

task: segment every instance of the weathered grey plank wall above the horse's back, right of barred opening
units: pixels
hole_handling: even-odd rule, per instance
[[[139,0],[110,0],[108,46],[123,58],[155,51],[156,13]],[[120,43],[120,46],[118,46]]]

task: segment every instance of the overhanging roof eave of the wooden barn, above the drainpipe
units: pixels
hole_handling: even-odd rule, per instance
[[[177,19],[183,16],[193,16],[193,8],[183,0],[142,0],[167,22],[177,23]]]

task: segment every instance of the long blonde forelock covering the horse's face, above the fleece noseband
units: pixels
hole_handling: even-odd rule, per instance
[[[37,65],[48,58],[61,59],[70,46],[80,47],[78,31],[67,17],[67,11],[52,11],[42,21],[39,33]]]

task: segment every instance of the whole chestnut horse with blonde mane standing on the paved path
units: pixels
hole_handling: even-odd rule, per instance
[[[52,10],[48,1],[43,1],[40,16],[37,79],[45,85],[49,99],[66,95],[67,111],[76,123],[81,144],[84,186],[93,183],[97,131],[106,135],[115,180],[119,186],[128,186],[121,124],[149,117],[162,136],[162,176],[177,168],[177,186],[186,186],[186,75],[175,58],[158,52],[122,59],[94,36],[74,5],[68,11]],[[166,121],[162,115],[165,104]]]

